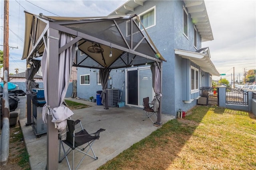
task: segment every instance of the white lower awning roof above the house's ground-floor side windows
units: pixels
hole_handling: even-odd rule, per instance
[[[189,59],[190,61],[196,63],[200,66],[202,70],[205,72],[209,72],[210,74],[214,76],[220,76],[220,73],[215,68],[214,64],[210,60],[210,51],[209,48],[203,48],[196,52],[192,51],[186,51],[182,49],[174,49],[175,54],[179,55],[180,57],[184,59]]]

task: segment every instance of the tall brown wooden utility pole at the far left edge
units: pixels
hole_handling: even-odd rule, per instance
[[[4,70],[9,75],[9,0],[4,0]]]

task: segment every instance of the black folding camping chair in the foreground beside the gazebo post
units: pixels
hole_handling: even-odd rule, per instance
[[[79,132],[75,132],[75,125],[77,125],[78,123],[80,123],[80,127],[82,130]],[[80,122],[80,120],[73,121],[73,120],[67,119],[67,124],[68,124],[68,132],[67,132],[66,140],[64,140],[64,141],[60,140],[60,146],[63,149],[64,156],[62,156],[62,158],[60,158],[60,150],[61,149],[59,148],[59,163],[62,162],[62,160],[64,158],[66,158],[66,161],[68,163],[68,168],[71,170],[70,164],[68,162],[68,154],[71,151],[73,151],[73,155],[72,155],[72,170],[73,170],[74,169],[74,151],[75,150],[78,150],[79,152],[84,154],[84,156],[82,157],[82,160],[84,160],[86,155],[97,160],[98,157],[95,156],[94,151],[92,149],[92,145],[96,139],[100,138],[100,132],[105,131],[105,129],[99,129],[95,133],[88,134],[88,132],[85,129],[83,129],[82,123]],[[68,145],[69,148],[67,151],[64,149],[63,143]],[[87,144],[84,148],[80,147],[84,144]],[[83,152],[83,150],[86,149],[87,147],[88,147],[88,149],[86,150],[86,152]],[[93,156],[88,154],[89,150],[92,151]],[[80,160],[78,166],[80,166],[82,160]],[[76,169],[78,168],[78,166],[76,166]]]

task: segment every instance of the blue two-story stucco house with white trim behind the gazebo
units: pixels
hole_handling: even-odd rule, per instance
[[[109,16],[126,14],[138,15],[144,27],[134,20],[167,60],[162,65],[162,113],[176,115],[178,109],[194,107],[200,87],[212,86],[212,76],[219,76],[209,48],[201,45],[213,40],[204,1],[129,0]],[[78,97],[88,99],[102,89],[98,70],[78,68],[77,74]],[[108,87],[119,89],[128,106],[143,107],[142,99],[149,96],[151,101],[155,95],[146,59],[145,66],[111,70]]]

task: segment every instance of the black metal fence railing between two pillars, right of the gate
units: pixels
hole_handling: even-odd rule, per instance
[[[226,104],[248,105],[248,92],[226,88]]]

